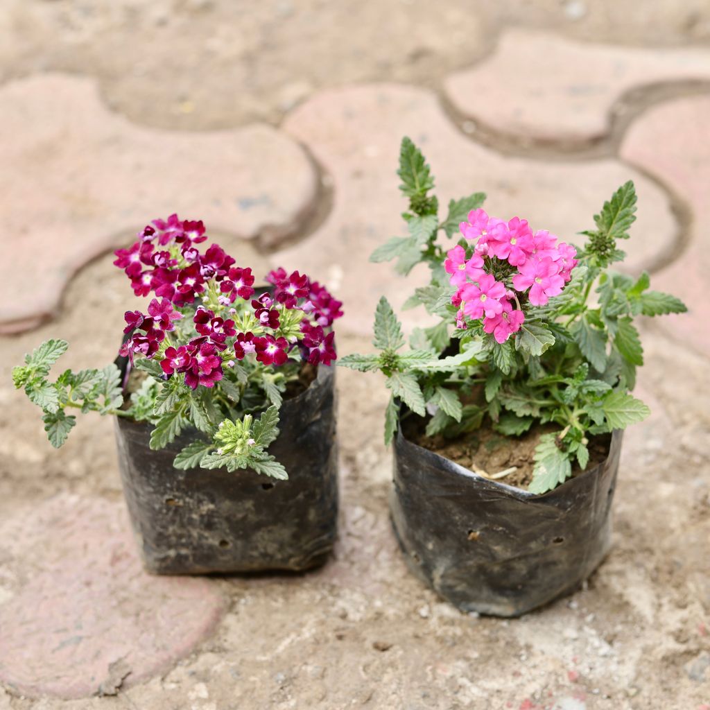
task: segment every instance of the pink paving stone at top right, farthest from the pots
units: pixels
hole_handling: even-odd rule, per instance
[[[588,44],[515,29],[444,89],[462,114],[497,133],[579,143],[609,132],[613,104],[630,89],[692,80],[710,80],[710,52]]]

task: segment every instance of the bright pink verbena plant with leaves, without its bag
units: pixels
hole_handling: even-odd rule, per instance
[[[449,202],[439,222],[429,165],[408,138],[398,175],[409,198],[409,236],[393,237],[371,261],[398,258],[402,274],[426,263],[430,284],[404,307],[423,305],[439,322],[415,328],[403,351],[400,324],[383,297],[375,315],[380,354],[349,355],[340,364],[386,376],[386,443],[398,428],[399,401],[428,415],[430,437],[458,437],[484,422],[510,437],[543,425],[529,490],[549,491],[572,475],[573,461],[586,468],[590,436],[648,416],[629,393],[643,364],[634,318],[686,310],[676,297],[648,290],[648,273],[608,270],[625,256],[616,241],[628,239],[635,220],[633,182],[604,203],[578,251],[525,219],[489,217],[481,192]],[[442,231],[457,244],[439,244]]]

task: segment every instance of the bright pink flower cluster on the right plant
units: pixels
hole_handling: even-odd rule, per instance
[[[562,293],[577,265],[573,246],[558,244],[557,237],[545,229],[533,232],[526,219],[504,222],[474,209],[460,229],[475,244],[471,253],[454,246],[444,262],[450,283],[458,289],[452,297],[459,307],[457,327],[465,328],[467,318],[483,320],[484,332],[492,333],[499,343],[518,332],[525,321],[520,307],[525,295],[531,305],[547,304]],[[494,274],[503,280],[496,280]]]

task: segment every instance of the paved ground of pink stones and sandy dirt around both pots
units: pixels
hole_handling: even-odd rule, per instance
[[[0,11],[0,710],[710,709],[710,13],[388,0],[386,25],[383,5]],[[11,365],[56,336],[67,366],[112,359],[133,300],[92,259],[173,209],[258,272],[326,280],[346,301],[339,350],[366,349],[379,293],[411,288],[366,263],[401,229],[403,133],[444,200],[486,190],[493,211],[573,241],[637,181],[629,268],[691,312],[643,324],[653,415],[626,435],[613,552],[521,620],[461,615],[408,574],[391,535],[386,392],[339,371],[333,559],[304,577],[144,574],[112,422],[87,418],[55,452]]]

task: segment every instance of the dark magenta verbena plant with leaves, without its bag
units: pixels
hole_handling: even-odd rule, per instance
[[[332,324],[342,303],[307,275],[282,268],[267,275],[271,288],[257,292],[251,268],[236,266],[217,244],[202,253],[198,245],[206,240],[202,222],[173,214],[153,220],[129,249],[115,253],[133,293],[153,295],[146,312],[125,315],[119,354],[142,378],[129,406],[115,364],[48,379],[67,349],[64,340],[44,342],[13,368],[16,388],[42,408],[53,446],[76,423],[67,410],[96,411],[149,422],[151,449],[195,427],[204,436],[175,457],[179,469],[226,466],[288,477],[266,450],[278,436],[283,393],[305,364],[336,359]]]

